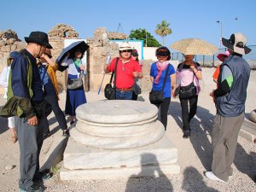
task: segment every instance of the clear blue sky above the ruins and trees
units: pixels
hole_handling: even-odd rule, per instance
[[[154,30],[166,20],[172,28],[166,46],[182,38],[202,38],[219,47],[221,27],[216,21],[220,20],[224,38],[242,32],[247,45],[256,44],[254,0],[5,0],[1,8],[0,30],[12,29],[22,41],[32,31],[49,32],[59,23],[73,26],[79,38],[92,38],[96,27],[116,32],[120,23],[127,35],[132,29],[145,28],[161,43]]]

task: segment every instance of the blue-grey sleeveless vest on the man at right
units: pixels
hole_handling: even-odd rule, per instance
[[[241,56],[230,55],[220,67],[218,84],[221,84],[222,68],[226,65],[233,75],[230,92],[216,98],[217,113],[223,117],[236,117],[245,111],[247,84],[250,77],[250,66]]]

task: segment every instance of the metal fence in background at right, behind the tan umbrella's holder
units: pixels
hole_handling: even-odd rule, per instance
[[[248,45],[248,47],[252,49],[252,51],[247,55],[243,55],[243,58],[249,63],[251,68],[256,69],[256,45]],[[218,61],[217,55],[219,53],[224,53],[225,51],[226,51],[226,48],[223,48],[223,49],[218,49],[218,52],[212,56],[195,55],[194,61],[199,62],[203,67],[216,67],[220,63],[220,61]],[[177,60],[182,62],[184,60],[183,54],[180,52],[174,52],[172,53],[171,60]]]

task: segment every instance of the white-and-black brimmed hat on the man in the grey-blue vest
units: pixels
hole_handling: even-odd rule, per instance
[[[230,39],[222,38],[222,44],[235,53],[246,55],[250,53],[252,49],[246,46],[247,37],[245,37],[241,32],[236,32],[230,36]]]

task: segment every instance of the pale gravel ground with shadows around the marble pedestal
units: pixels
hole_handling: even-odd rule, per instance
[[[203,68],[204,80],[201,81],[202,91],[199,96],[198,112],[191,122],[192,136],[189,139],[182,137],[181,108],[178,99],[172,99],[169,115],[167,137],[172,140],[178,149],[178,163],[181,173],[178,175],[164,175],[162,177],[108,179],[93,181],[61,182],[58,172],[44,183],[45,191],[108,191],[108,192],[141,192],[141,191],[255,191],[256,184],[256,145],[239,137],[234,162],[234,176],[228,183],[212,182],[204,177],[203,172],[211,168],[211,134],[212,119],[215,108],[209,92],[214,89],[212,83],[212,68]],[[256,108],[256,73],[251,73],[250,84],[247,89],[246,113]],[[86,93],[88,102],[103,99],[96,92]],[[139,97],[148,102],[148,93]],[[65,93],[61,94],[61,108],[65,105]],[[0,99],[0,106],[3,100]],[[47,153],[51,143],[60,137],[59,127],[53,117],[49,116],[51,137],[44,141],[41,157]],[[19,145],[9,141],[7,120],[0,118],[0,191],[18,191],[19,177]],[[11,167],[9,166],[15,166]],[[61,166],[61,164],[60,164]]]

